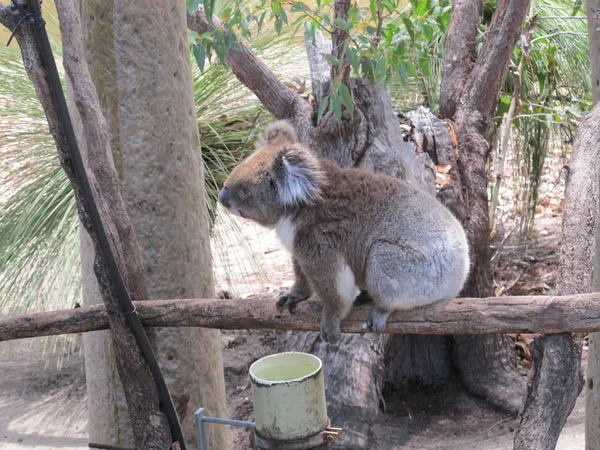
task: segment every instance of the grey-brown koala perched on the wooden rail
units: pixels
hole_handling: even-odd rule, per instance
[[[354,300],[373,300],[364,324],[382,332],[394,310],[454,298],[469,273],[467,238],[438,200],[389,176],[342,169],[270,125],[219,192],[231,213],[275,229],[296,276],[278,308],[315,294],[321,338],[336,345]]]

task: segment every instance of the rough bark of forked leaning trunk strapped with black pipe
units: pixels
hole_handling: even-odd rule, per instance
[[[69,0],[56,2],[63,44],[63,63],[70,80],[73,98],[82,119],[87,152],[83,153],[95,201],[103,218],[106,232],[133,299],[146,297],[141,256],[125,204],[121,198],[118,177],[110,154],[108,127],[102,116],[87,65],[85,64],[82,32],[75,4]],[[18,15],[8,7],[0,6],[0,20],[13,28]],[[96,249],[94,269],[104,305],[108,311],[121,311],[108,272],[100,253],[96,235],[81,197],[68,154],[66,136],[50,95],[46,72],[28,22],[22,24],[17,40],[21,47],[25,68],[44,108],[61,164],[73,185],[81,222],[92,237]],[[135,338],[123,318],[109,314],[109,325],[115,349],[117,369],[123,382],[136,447],[164,449],[171,445],[171,436],[165,416],[160,411],[152,375],[139,351]],[[151,427],[148,424],[152,424]]]

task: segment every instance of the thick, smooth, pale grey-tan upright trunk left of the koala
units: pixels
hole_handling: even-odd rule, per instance
[[[111,128],[113,158],[142,250],[149,299],[214,296],[200,143],[187,43],[185,2],[81,3],[88,64]],[[83,260],[86,258],[82,245]],[[89,265],[84,267],[84,273]],[[95,300],[84,277],[85,302]],[[194,446],[193,412],[225,417],[218,330],[159,329],[156,350]],[[90,439],[129,446],[127,413],[102,334],[85,338]],[[99,408],[98,402],[103,402]],[[208,427],[211,449],[227,428]]]

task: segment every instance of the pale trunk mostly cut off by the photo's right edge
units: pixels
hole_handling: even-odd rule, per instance
[[[587,0],[588,42],[592,63],[592,95],[600,102],[600,0]],[[600,228],[596,233],[596,256],[592,289],[600,292]],[[588,362],[585,391],[585,446],[593,450],[600,446],[600,333],[588,336]]]

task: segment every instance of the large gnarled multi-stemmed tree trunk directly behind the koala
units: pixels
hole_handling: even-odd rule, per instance
[[[336,12],[347,10],[342,3],[349,3],[349,0],[337,0]],[[501,0],[498,3],[480,57],[477,57],[475,51],[479,16],[473,15],[473,12],[482,10],[481,2],[455,2],[455,12],[451,20],[455,39],[451,40],[453,44],[449,46],[448,53],[452,54],[454,47],[462,50],[456,58],[447,58],[448,64],[455,70],[445,73],[445,87],[442,88],[445,97],[442,98],[442,106],[450,107],[452,113],[447,117],[457,122],[461,146],[464,145],[464,151],[461,151],[461,159],[464,161],[457,167],[456,158],[453,156],[455,149],[452,146],[440,149],[443,155],[434,156],[436,161],[442,161],[444,158],[454,161],[452,176],[456,182],[441,195],[442,198],[447,197],[450,209],[463,219],[471,245],[475,249],[475,275],[468,287],[469,292],[474,292],[477,296],[484,296],[483,294],[491,290],[485,184],[487,140],[491,132],[492,112],[525,18],[527,4],[528,2],[519,0]],[[463,21],[465,24],[461,25]],[[188,26],[200,34],[220,26],[218,20],[213,19],[213,23],[214,25],[211,25],[207,22],[202,10],[188,17]],[[463,35],[465,30],[468,33]],[[343,33],[334,34],[334,40],[342,39],[340,34]],[[464,40],[461,40],[461,36]],[[330,54],[332,48],[339,48],[338,44],[339,42],[335,42],[334,45],[328,43],[318,33],[316,48],[307,42],[316,104],[319,104],[331,89],[332,68],[324,55]],[[475,60],[477,64],[473,65]],[[309,104],[278,80],[245,46],[231,49],[227,62],[238,79],[256,94],[275,117],[294,122],[301,141],[314,148],[319,155],[337,161],[342,167],[362,167],[396,176],[434,193],[431,160],[425,153],[415,154],[414,147],[403,141],[398,118],[392,111],[386,89],[375,88],[361,79],[349,80],[355,102],[354,118],[344,118],[342,123],[338,124],[333,113],[329,111],[317,126],[316,114]],[[469,74],[469,79],[465,79],[462,73]],[[459,86],[464,89],[458,90]],[[466,105],[463,105],[465,102]],[[469,114],[473,114],[473,117],[470,118]],[[448,141],[451,142],[449,138]],[[435,142],[433,144],[435,145]],[[465,180],[467,198],[462,195],[461,179]],[[467,210],[469,215],[464,214]],[[326,353],[317,336],[310,333],[297,333],[290,342],[290,348],[315,351],[324,359],[324,366],[329,368],[326,371],[329,411],[334,424],[344,426],[346,430],[341,442],[337,444],[339,448],[369,448],[369,421],[378,411],[378,399],[381,397],[385,374],[385,353],[389,342],[389,337],[368,335],[360,338],[347,335],[338,353]],[[469,352],[465,350],[471,342],[477,344],[474,350],[469,351],[479,355],[476,362],[480,366],[480,374],[472,374],[466,370],[471,361],[468,360]],[[472,391],[488,395],[496,404],[516,412],[520,396],[517,394],[507,399],[506,386],[511,386],[511,393],[515,390],[518,392],[519,383],[523,386],[523,382],[515,373],[507,370],[506,366],[511,362],[514,366],[515,362],[511,359],[514,353],[507,345],[506,339],[502,336],[491,336],[485,340],[468,337],[461,341],[462,343],[464,345],[455,346],[454,354],[459,368],[463,368],[463,380],[470,383]],[[446,339],[438,337],[396,337],[390,351],[395,354],[416,354],[417,352],[407,351],[407,346],[411,346],[412,349],[429,348],[432,350],[429,354],[435,356],[447,354],[447,344]],[[393,380],[400,380],[399,383],[402,384],[402,380],[405,379],[404,373],[420,372],[431,375],[427,378],[421,376],[421,379],[432,380],[432,383],[445,380],[449,373],[447,358],[428,359],[421,353],[418,354],[418,358],[424,359],[426,364],[407,358],[394,358],[393,362],[388,359],[388,363],[393,364],[388,366]],[[499,386],[497,389],[489,387],[494,383]]]

